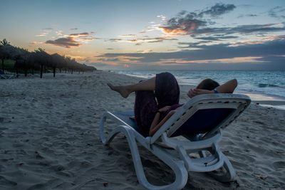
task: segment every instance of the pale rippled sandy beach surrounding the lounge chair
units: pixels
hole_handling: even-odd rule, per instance
[[[99,136],[103,112],[133,110],[135,101],[134,94],[124,99],[106,83],[139,80],[100,70],[0,80],[0,189],[144,189],[125,137],[105,146]],[[186,89],[180,102],[189,98]],[[271,104],[253,102],[219,144],[237,181],[224,184],[190,172],[185,189],[285,189],[285,110],[262,103]],[[108,123],[110,132],[115,125]],[[175,179],[146,149],[140,153],[153,184]]]

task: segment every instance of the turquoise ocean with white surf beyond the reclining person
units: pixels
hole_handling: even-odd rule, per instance
[[[236,78],[236,93],[245,93],[252,100],[285,100],[285,70],[112,70],[141,78],[166,71],[175,75],[180,85],[197,85],[204,78],[222,84]]]

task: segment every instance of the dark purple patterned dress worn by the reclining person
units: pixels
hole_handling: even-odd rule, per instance
[[[159,122],[170,110],[179,105],[180,88],[176,78],[171,73],[159,73],[155,77],[155,91],[142,90],[135,92],[135,121],[139,132],[145,137],[149,136],[150,125],[157,110],[171,106],[169,110],[160,115]]]

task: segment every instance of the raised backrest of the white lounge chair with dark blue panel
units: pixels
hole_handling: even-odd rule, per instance
[[[160,127],[160,130],[155,132],[150,143],[154,143],[164,132],[167,133],[167,137],[188,135],[189,133],[202,133],[203,137],[209,137],[219,128],[227,127],[249,106],[250,102],[247,95],[195,96],[180,107],[180,110],[177,110]]]

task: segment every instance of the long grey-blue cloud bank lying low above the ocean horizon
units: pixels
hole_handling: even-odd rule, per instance
[[[135,65],[195,65],[196,69],[202,68],[201,64],[212,65],[209,69],[222,66],[224,68],[240,69],[285,69],[284,61],[285,36],[263,43],[245,44],[244,46],[231,46],[215,44],[212,46],[199,46],[195,50],[183,50],[168,53],[105,53],[102,58],[128,57],[136,58]],[[170,64],[171,63],[171,64]],[[197,65],[197,64],[200,64]],[[223,64],[223,65],[220,65]],[[235,66],[227,66],[234,64]],[[259,66],[261,68],[259,68]],[[203,66],[204,67],[204,66]],[[133,68],[133,65],[132,65]],[[172,67],[173,68],[173,67]],[[175,67],[174,67],[175,68]],[[207,67],[206,67],[207,68]]]

